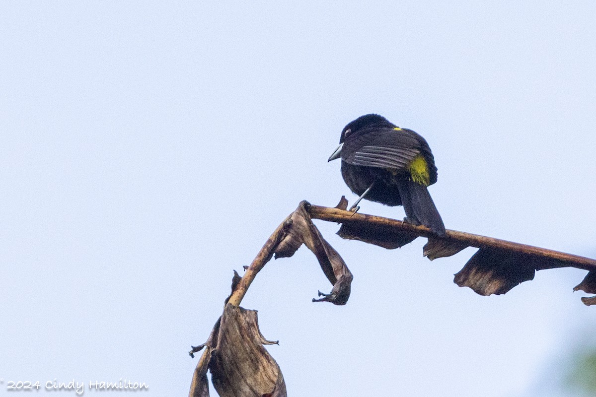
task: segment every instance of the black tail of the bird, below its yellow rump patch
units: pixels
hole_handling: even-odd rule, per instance
[[[398,189],[409,222],[423,224],[439,236],[445,235],[445,225],[426,186],[405,180]]]

